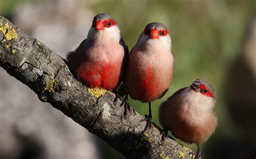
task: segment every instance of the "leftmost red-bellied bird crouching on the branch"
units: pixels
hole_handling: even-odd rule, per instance
[[[128,53],[116,20],[100,13],[93,18],[87,38],[67,60],[85,85],[114,91],[123,80]]]

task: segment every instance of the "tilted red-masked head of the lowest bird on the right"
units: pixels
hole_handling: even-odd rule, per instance
[[[190,88],[206,97],[216,98],[215,90],[213,89],[212,85],[203,79],[197,79],[196,81],[192,82]]]

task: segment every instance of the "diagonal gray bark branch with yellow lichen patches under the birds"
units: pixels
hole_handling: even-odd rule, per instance
[[[144,116],[131,113],[125,120],[122,101],[113,104],[114,93],[106,92],[99,98],[90,95],[67,64],[40,41],[0,17],[0,66],[29,86],[42,102],[50,103],[127,158],[194,158],[191,149],[170,138],[161,144],[161,130],[155,124],[142,134],[146,122],[140,120]]]

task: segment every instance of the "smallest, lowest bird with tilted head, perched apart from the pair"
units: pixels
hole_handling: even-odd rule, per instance
[[[206,142],[214,133],[218,119],[214,112],[216,93],[210,83],[197,79],[188,87],[175,92],[159,107],[159,121],[163,126],[162,141],[170,130],[174,137],[187,143]]]

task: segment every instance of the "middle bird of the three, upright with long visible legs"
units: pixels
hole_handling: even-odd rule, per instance
[[[171,37],[165,25],[157,22],[147,24],[139,35],[137,44],[129,53],[124,77],[127,97],[149,103],[149,115],[145,115],[145,132],[151,128],[151,102],[165,95],[173,76]],[[128,106],[129,107],[129,106]]]

